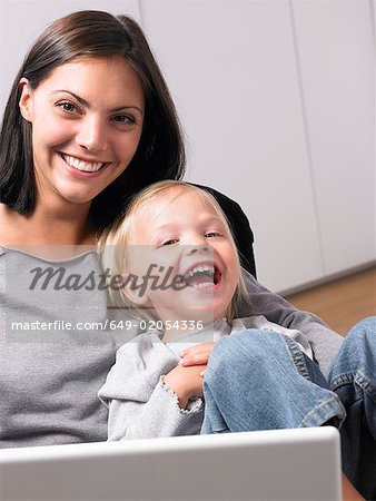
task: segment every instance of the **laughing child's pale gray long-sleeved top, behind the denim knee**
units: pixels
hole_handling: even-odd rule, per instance
[[[120,347],[116,363],[98,396],[109,409],[108,440],[154,439],[192,435],[200,432],[204,420],[202,399],[188,401],[180,409],[178,396],[165,385],[164,376],[179,363],[179,353],[198,343],[257,328],[267,335],[279,332],[295,340],[311,357],[307,338],[299,331],[280,327],[265,316],[236,318],[231,327],[226,318],[201,331],[188,332],[165,344],[162,333],[150,331]],[[267,356],[267,355],[266,355]]]

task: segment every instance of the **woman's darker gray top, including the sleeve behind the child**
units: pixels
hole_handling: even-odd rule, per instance
[[[90,273],[100,273],[96,254],[56,262],[3,247],[0,254],[0,446],[106,440],[108,415],[97,392],[117,350],[138,332],[100,328],[100,323],[105,325],[115,314],[107,310],[106,293],[98,287],[90,289],[89,279],[87,288],[73,289],[78,275],[90,278]],[[30,289],[30,277],[34,276],[30,272],[49,266],[63,268],[66,288],[43,289],[38,283]],[[300,330],[326,370],[342,337],[250,276],[246,279],[253,306],[240,310],[240,316],[265,315],[276,324]],[[57,320],[96,321],[98,327],[69,331],[60,324],[47,330],[11,328],[14,321],[31,325]]]

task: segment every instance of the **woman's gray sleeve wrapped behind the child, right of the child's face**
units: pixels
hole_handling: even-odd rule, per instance
[[[308,338],[315,358],[325,374],[337,353],[343,336],[332,331],[318,316],[296,310],[278,294],[260,285],[249,273],[243,271],[250,304],[241,303],[238,316],[264,315],[268,321],[300,331]]]

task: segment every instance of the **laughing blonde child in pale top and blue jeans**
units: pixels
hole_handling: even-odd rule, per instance
[[[342,425],[343,471],[376,499],[375,317],[347,334],[326,379],[303,333],[235,318],[248,297],[231,232],[207,191],[180,181],[140,191],[100,249],[122,275],[113,302],[149,327],[99,391],[109,440]],[[343,488],[363,499],[345,475]]]

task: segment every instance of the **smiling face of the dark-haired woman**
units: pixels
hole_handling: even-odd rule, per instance
[[[56,68],[34,90],[27,79],[20,86],[21,114],[32,124],[37,200],[92,200],[137,150],[145,110],[138,75],[121,57],[82,58]]]

